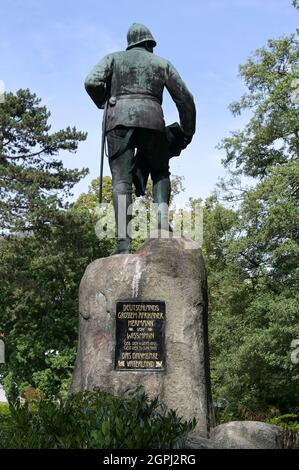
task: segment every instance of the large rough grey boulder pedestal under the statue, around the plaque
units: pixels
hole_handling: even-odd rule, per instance
[[[135,254],[91,263],[80,285],[80,331],[71,391],[99,387],[120,394],[143,385],[207,437],[211,423],[207,285],[204,261],[186,239],[149,239]],[[166,303],[164,372],[114,370],[119,300]]]

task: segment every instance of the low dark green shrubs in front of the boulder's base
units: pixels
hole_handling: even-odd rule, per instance
[[[140,390],[122,397],[84,392],[60,402],[10,405],[0,420],[0,448],[179,448],[195,424]]]

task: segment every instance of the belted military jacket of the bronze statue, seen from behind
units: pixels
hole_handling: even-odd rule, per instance
[[[98,107],[105,103],[107,89],[115,97],[115,105],[107,109],[107,131],[119,125],[163,131],[164,87],[177,106],[184,133],[193,135],[193,96],[174,66],[146,49],[134,47],[106,55],[85,80],[85,88]]]

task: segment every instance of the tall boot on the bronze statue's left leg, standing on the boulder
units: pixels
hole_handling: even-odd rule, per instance
[[[111,255],[131,253],[132,194],[113,192],[113,207],[117,230],[117,247]]]

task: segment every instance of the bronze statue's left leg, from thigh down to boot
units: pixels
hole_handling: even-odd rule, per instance
[[[123,139],[125,138],[126,130],[116,129],[115,131],[111,131],[108,134],[109,153],[111,149],[122,145]],[[112,254],[127,254],[131,252],[130,222],[132,218],[134,149],[127,148],[116,158],[109,158],[109,165],[112,175],[113,207],[117,236],[117,248]]]

